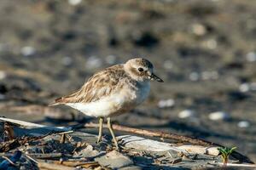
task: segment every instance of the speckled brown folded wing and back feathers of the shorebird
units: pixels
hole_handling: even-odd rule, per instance
[[[119,81],[125,77],[123,68],[123,65],[113,65],[97,72],[76,93],[55,99],[55,102],[50,105],[90,103],[113,93],[117,88],[122,88]]]

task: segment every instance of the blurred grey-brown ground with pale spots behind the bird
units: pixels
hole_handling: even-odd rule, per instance
[[[0,115],[96,121],[47,105],[95,71],[144,57],[165,83],[115,122],[238,147],[256,161],[256,2],[0,2]]]

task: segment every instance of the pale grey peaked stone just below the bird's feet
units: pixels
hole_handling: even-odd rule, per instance
[[[96,157],[95,161],[98,161],[103,167],[110,167],[113,169],[133,165],[133,161],[131,161],[128,156],[124,156],[116,150],[108,152],[104,156]]]

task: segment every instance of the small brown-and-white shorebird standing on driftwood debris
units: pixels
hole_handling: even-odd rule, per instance
[[[150,80],[164,82],[154,75],[148,59],[135,58],[125,64],[113,65],[97,72],[74,94],[59,99],[50,105],[68,105],[87,116],[99,117],[99,135],[102,140],[102,123],[108,120],[108,129],[116,149],[119,149],[113,133],[110,117],[131,111],[148,97]]]

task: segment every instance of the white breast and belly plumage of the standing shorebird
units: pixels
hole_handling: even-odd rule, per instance
[[[119,92],[105,96],[96,102],[68,103],[66,105],[87,116],[110,116],[118,111],[128,111],[141,104],[148,97],[149,90],[149,82],[143,82],[137,88],[129,88],[126,85]]]

